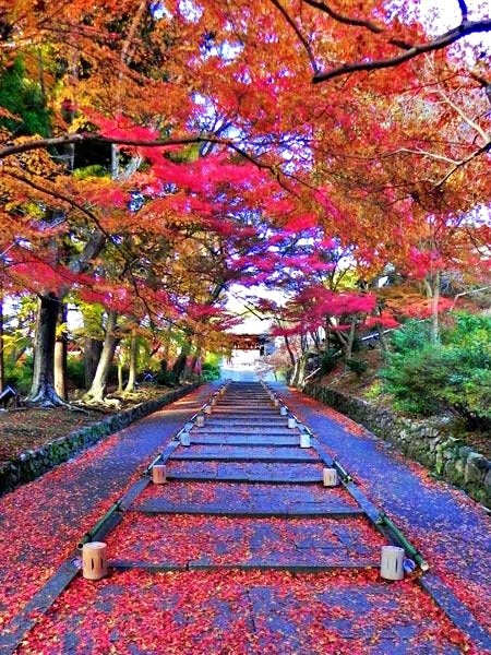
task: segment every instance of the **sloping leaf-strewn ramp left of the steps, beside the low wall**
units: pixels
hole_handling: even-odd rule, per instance
[[[209,389],[183,390],[184,397],[0,498],[0,633]]]

